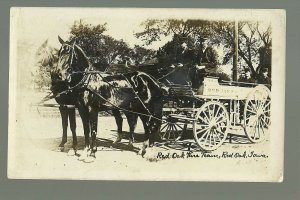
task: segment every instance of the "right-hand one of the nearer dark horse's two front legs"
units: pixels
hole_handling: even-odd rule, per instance
[[[97,152],[96,137],[97,137],[97,128],[98,128],[98,111],[91,109],[89,115],[90,115],[91,136],[92,136],[90,156],[96,158],[95,153]]]

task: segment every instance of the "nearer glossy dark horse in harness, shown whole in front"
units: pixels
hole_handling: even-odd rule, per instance
[[[55,70],[58,79],[68,83],[69,91],[76,93],[74,100],[83,120],[85,147],[90,151],[88,155],[95,157],[98,112],[107,109],[123,110],[126,116],[132,118],[140,117],[145,129],[140,153],[145,154],[148,142],[150,145],[154,143],[154,136],[161,125],[161,87],[142,72],[110,76],[94,71],[79,46],[60,41],[62,47]]]

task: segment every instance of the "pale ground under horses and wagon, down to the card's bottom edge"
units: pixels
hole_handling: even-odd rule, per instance
[[[26,116],[26,117],[25,117]],[[134,149],[129,149],[128,125],[123,121],[124,139],[117,146],[116,124],[111,116],[99,117],[98,151],[93,162],[68,154],[72,136],[64,151],[61,142],[61,119],[58,108],[32,106],[19,116],[15,135],[10,133],[8,176],[10,178],[117,179],[117,180],[245,180],[268,174],[269,141],[250,143],[233,137],[213,152],[201,151],[193,138],[171,143],[156,143],[144,157],[137,154],[142,146],[143,127],[138,121]],[[77,116],[78,154],[83,154],[84,137]],[[189,146],[190,144],[190,146]]]

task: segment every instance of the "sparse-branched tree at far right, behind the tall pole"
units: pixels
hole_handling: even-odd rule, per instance
[[[210,42],[213,44],[222,44],[225,56],[223,64],[231,61],[233,56],[233,40],[234,40],[234,23],[233,22],[216,22],[213,26],[215,34],[212,35]],[[263,67],[263,60],[270,60],[270,56],[264,57],[266,52],[271,49],[271,27],[262,30],[260,22],[239,22],[238,23],[238,55],[239,63],[250,69],[253,78],[257,79],[259,71]],[[268,50],[266,50],[268,49]],[[263,58],[264,57],[264,58]],[[261,64],[260,64],[261,63]],[[269,62],[269,67],[271,63]]]

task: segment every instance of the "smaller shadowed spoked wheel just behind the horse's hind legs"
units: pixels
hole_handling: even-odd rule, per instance
[[[164,121],[162,122],[159,132],[161,139],[170,142],[179,140],[185,131],[185,124],[171,116],[167,116],[163,119]]]

